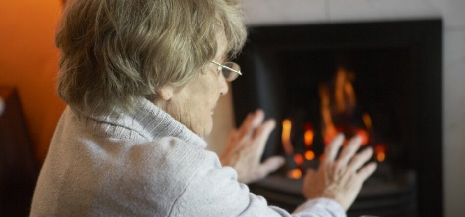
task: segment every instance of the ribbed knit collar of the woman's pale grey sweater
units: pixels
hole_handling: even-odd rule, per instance
[[[97,113],[94,111],[87,118],[97,122],[96,125],[92,126],[93,129],[101,127],[101,130],[105,131],[106,134],[114,136],[127,137],[127,135],[119,134],[129,130],[137,132],[149,141],[155,141],[162,137],[176,137],[187,144],[201,148],[207,146],[205,141],[187,128],[186,125],[175,120],[151,101],[142,97],[136,99],[134,108],[136,111],[134,114],[123,113],[121,109],[115,108],[113,111],[101,115],[95,115]],[[88,121],[86,122],[88,123]],[[113,125],[113,127],[106,126],[108,124]],[[116,129],[118,127],[127,130],[118,130]]]

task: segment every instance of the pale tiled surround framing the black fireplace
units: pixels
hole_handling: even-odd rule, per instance
[[[444,208],[446,217],[465,216],[465,0],[242,1],[251,25],[442,17]],[[231,108],[231,96],[219,103],[222,108]],[[233,126],[233,111],[222,109],[215,117],[212,135],[221,130],[222,136],[206,139],[210,149],[221,153],[224,131]]]

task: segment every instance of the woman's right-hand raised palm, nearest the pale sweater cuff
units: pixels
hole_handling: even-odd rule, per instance
[[[303,195],[308,199],[334,199],[347,211],[360,192],[363,182],[376,170],[376,163],[362,167],[372,157],[373,149],[366,148],[355,154],[362,142],[360,137],[352,138],[335,160],[343,142],[344,135],[338,135],[326,146],[325,158],[318,171],[307,170],[303,181]]]

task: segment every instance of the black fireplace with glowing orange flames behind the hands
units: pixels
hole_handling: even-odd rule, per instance
[[[442,216],[441,51],[436,19],[250,27],[236,124],[263,108],[280,123],[263,157],[287,159],[251,191],[292,211],[328,141],[360,135],[378,169],[349,216]]]

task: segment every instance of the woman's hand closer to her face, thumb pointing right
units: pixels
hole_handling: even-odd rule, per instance
[[[263,122],[264,118],[262,110],[249,113],[242,125],[231,131],[225,152],[220,157],[223,166],[236,169],[239,182],[254,182],[284,164],[282,156],[270,157],[260,163],[266,141],[276,125],[273,119]]]

